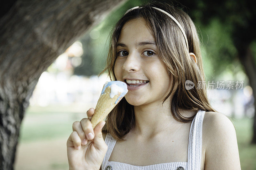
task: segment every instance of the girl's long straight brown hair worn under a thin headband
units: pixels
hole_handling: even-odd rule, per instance
[[[114,66],[117,56],[117,42],[121,29],[127,21],[137,18],[144,18],[148,28],[152,31],[159,52],[159,56],[165,63],[170,76],[173,77],[172,88],[164,101],[171,95],[172,116],[180,122],[192,122],[195,117],[184,117],[178,109],[199,109],[204,111],[214,110],[207,98],[205,87],[197,88],[198,82],[205,81],[200,41],[196,27],[187,13],[167,3],[148,2],[126,13],[120,18],[111,31],[108,58],[106,68],[99,76],[108,71],[110,79],[116,80]],[[160,8],[170,13],[180,23],[184,29],[189,52],[196,55],[197,64],[189,56],[186,42],[178,25],[168,15],[152,7]],[[195,88],[185,89],[185,81],[190,80],[195,84]],[[175,88],[174,88],[175,86]],[[177,88],[176,88],[177,87]],[[106,125],[103,130],[110,133],[117,141],[124,141],[126,135],[135,125],[135,115],[133,106],[123,98],[106,118]]]

